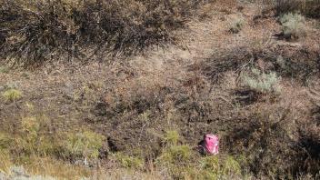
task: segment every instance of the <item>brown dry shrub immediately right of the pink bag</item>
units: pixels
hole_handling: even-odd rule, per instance
[[[292,149],[292,125],[287,109],[255,110],[230,132],[226,143],[231,152],[243,152],[255,175],[284,177],[290,174],[295,151]],[[286,128],[284,128],[286,127]]]

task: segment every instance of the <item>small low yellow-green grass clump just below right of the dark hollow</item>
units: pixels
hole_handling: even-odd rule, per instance
[[[124,155],[122,153],[115,154],[116,160],[125,168],[141,169],[144,167],[144,161],[138,157]]]

